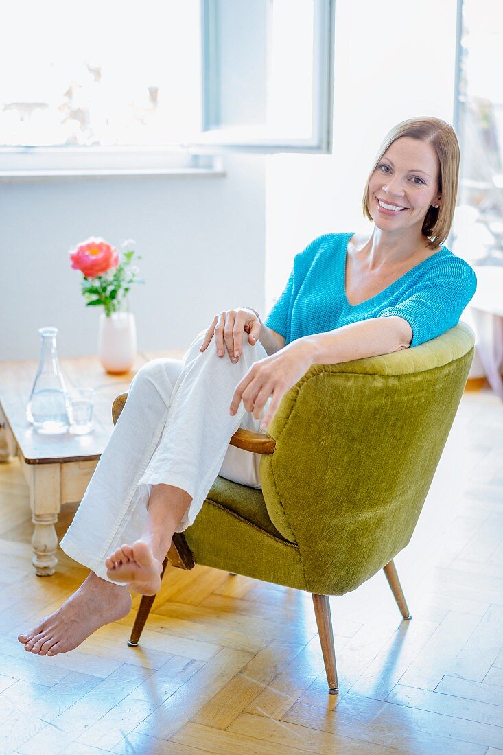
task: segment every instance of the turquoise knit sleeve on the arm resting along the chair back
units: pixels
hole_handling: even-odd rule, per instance
[[[407,291],[406,298],[379,317],[403,317],[412,328],[410,346],[424,344],[458,324],[477,288],[477,276],[460,257],[453,257]]]

